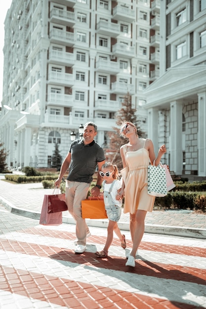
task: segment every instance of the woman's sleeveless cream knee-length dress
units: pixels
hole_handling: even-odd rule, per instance
[[[150,212],[153,210],[155,196],[147,193],[147,167],[150,164],[150,158],[149,152],[144,146],[137,151],[128,152],[127,144],[123,146],[128,167],[127,173],[123,177],[125,184],[124,213],[134,214],[137,209]]]

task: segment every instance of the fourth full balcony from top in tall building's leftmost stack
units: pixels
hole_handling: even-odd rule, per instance
[[[73,74],[51,71],[48,75],[48,83],[71,87],[74,85]]]

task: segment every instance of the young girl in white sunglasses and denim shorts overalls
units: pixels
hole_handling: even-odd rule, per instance
[[[99,258],[106,257],[108,255],[108,249],[111,246],[113,240],[113,232],[117,234],[121,241],[121,246],[123,249],[126,248],[125,235],[120,232],[118,227],[118,221],[120,220],[123,199],[116,199],[116,195],[120,192],[122,188],[122,183],[118,178],[118,168],[117,165],[112,163],[105,163],[102,165],[100,176],[104,179],[102,183],[103,191],[99,195],[104,196],[104,204],[109,219],[109,224],[107,228],[107,240],[104,249],[95,254]]]

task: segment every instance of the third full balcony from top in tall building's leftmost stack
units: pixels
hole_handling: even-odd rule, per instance
[[[75,64],[75,54],[60,50],[50,50],[49,63],[63,64],[65,66],[73,66]]]

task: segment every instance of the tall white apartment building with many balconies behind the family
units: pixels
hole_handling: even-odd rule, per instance
[[[0,116],[9,166],[50,166],[55,143],[64,157],[70,135],[79,137],[89,120],[98,126],[96,141],[108,145],[128,92],[147,131],[144,90],[158,70],[150,12],[150,0],[12,1]]]

